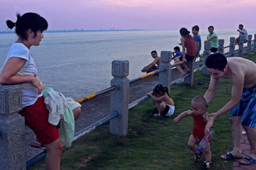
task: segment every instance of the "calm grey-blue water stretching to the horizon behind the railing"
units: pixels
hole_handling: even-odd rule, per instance
[[[256,34],[256,30],[247,31]],[[229,45],[230,37],[238,36],[236,30],[214,32],[224,39],[225,46]],[[209,33],[200,30],[199,34],[203,42]],[[0,68],[16,39],[15,34],[0,34]],[[156,50],[160,56],[161,51],[173,51],[178,42],[178,30],[44,32],[40,45],[31,47],[30,51],[42,84],[67,97],[79,98],[110,86],[113,60],[129,60],[128,78],[135,78],[144,74],[143,66],[153,61],[151,51]]]

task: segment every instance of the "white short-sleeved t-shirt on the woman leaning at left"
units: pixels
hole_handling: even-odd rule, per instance
[[[24,44],[14,43],[7,54],[5,63],[10,57],[19,57],[27,60],[24,67],[16,75],[37,76],[38,70],[36,69],[35,61],[30,50]],[[38,95],[38,89],[31,83],[20,85],[22,86],[22,107],[33,105],[39,97],[43,96],[43,94]]]

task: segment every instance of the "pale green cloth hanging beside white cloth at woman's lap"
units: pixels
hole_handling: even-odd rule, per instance
[[[44,89],[43,90],[44,98],[49,96],[48,92],[53,92],[53,91],[54,90],[52,88]],[[63,96],[63,94],[62,94],[62,96]],[[65,100],[65,98],[64,98],[64,100]],[[67,103],[67,109],[63,115],[63,118],[60,119],[59,125],[60,125],[61,143],[64,144],[64,146],[66,146],[66,147],[71,147],[71,143],[72,143],[72,140],[73,140],[73,137],[75,134],[75,119],[74,119],[73,111],[72,111],[71,107],[68,106],[68,103]]]

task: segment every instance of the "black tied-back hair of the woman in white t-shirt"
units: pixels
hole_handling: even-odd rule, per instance
[[[27,31],[31,29],[36,37],[38,31],[45,31],[48,28],[48,23],[46,19],[36,13],[26,13],[20,16],[19,13],[16,14],[17,20],[16,23],[11,20],[7,20],[6,24],[10,29],[16,27],[16,34],[20,36],[22,39],[27,40]]]

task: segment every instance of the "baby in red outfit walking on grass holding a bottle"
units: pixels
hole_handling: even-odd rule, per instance
[[[188,140],[188,147],[191,148],[193,152],[196,153],[195,163],[198,163],[203,155],[205,154],[205,168],[212,167],[212,161],[210,160],[212,154],[210,153],[210,142],[207,144],[207,147],[204,148],[204,151],[198,151],[196,143],[199,143],[205,135],[210,135],[210,127],[213,125],[213,117],[209,117],[207,113],[207,102],[203,96],[196,96],[191,101],[191,109],[184,111],[178,115],[175,119],[175,123],[179,123],[180,119],[191,115],[194,118],[194,127],[192,135]],[[207,120],[207,123],[204,122],[204,118]]]

